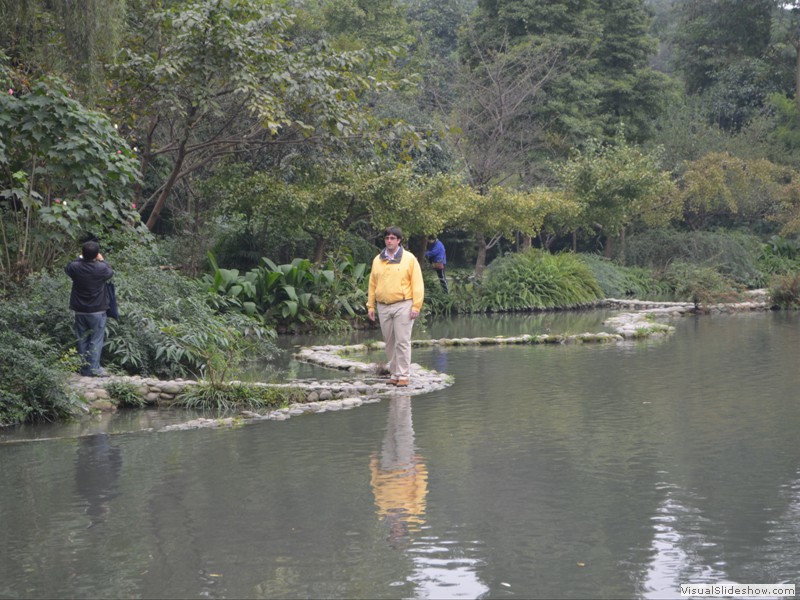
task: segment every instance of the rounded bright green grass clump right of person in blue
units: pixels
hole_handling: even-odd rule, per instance
[[[489,265],[480,289],[485,311],[575,308],[603,298],[589,267],[572,253],[529,250]]]

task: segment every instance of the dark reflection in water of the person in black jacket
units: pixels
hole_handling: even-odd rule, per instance
[[[119,495],[117,478],[122,467],[120,449],[110,443],[105,433],[80,438],[75,461],[75,481],[78,493],[86,499],[93,527],[108,518],[109,503]]]

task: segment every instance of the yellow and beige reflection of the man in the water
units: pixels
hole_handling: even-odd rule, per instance
[[[380,455],[370,460],[372,490],[378,516],[389,528],[395,547],[408,545],[411,533],[425,522],[428,468],[414,451],[411,398],[395,396],[389,404],[389,422]]]

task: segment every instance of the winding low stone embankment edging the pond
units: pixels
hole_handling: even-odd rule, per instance
[[[450,347],[450,346],[489,346],[514,344],[591,344],[591,343],[624,343],[631,340],[653,338],[672,333],[675,328],[669,323],[671,319],[686,314],[694,314],[696,309],[691,303],[683,302],[647,302],[640,300],[606,299],[598,303],[598,308],[619,309],[618,315],[608,318],[605,326],[610,331],[579,333],[573,335],[519,335],[514,337],[478,337],[450,338],[438,340],[413,340],[415,348]],[[730,313],[759,311],[769,308],[763,292],[752,293],[752,300],[733,304],[717,304],[704,307],[704,313]],[[169,425],[160,431],[176,429],[194,429],[198,427],[226,427],[246,421],[273,420],[282,421],[292,416],[306,413],[322,413],[328,411],[347,410],[363,404],[379,402],[381,398],[392,395],[413,396],[425,394],[452,385],[453,379],[444,373],[425,369],[414,363],[411,368],[411,384],[407,388],[398,389],[387,383],[385,377],[378,374],[376,363],[367,363],[349,358],[348,355],[365,355],[384,349],[383,342],[372,344],[356,344],[350,346],[311,346],[302,348],[295,354],[296,360],[336,369],[347,373],[338,380],[303,380],[283,384],[251,384],[267,387],[286,388],[302,391],[304,401],[294,403],[287,408],[270,410],[264,413],[242,410],[236,416],[219,419],[193,419],[176,425]],[[381,352],[382,358],[382,352]],[[177,379],[162,381],[139,376],[118,376],[95,378],[74,376],[71,385],[87,401],[89,410],[115,410],[116,403],[109,390],[113,382],[130,384],[136,393],[147,403],[169,405],[186,389],[196,385],[196,381]]]

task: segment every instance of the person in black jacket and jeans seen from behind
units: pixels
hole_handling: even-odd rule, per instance
[[[81,247],[81,255],[70,262],[64,271],[72,279],[69,307],[75,311],[75,337],[78,354],[83,359],[81,375],[106,377],[100,367],[103,339],[106,334],[108,293],[106,282],[114,271],[100,254],[100,245],[88,241]]]

